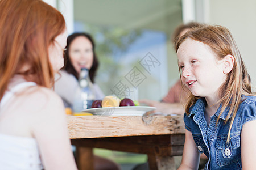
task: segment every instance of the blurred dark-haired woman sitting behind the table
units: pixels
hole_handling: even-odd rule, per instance
[[[89,77],[96,92],[96,100],[103,99],[104,94],[94,81],[99,63],[92,37],[88,33],[69,35],[64,58],[65,65],[59,71],[59,78],[56,78],[55,91],[63,99],[65,107],[72,107],[73,97],[79,86],[78,79],[81,68],[89,70]],[[119,169],[118,164],[109,159],[96,155],[93,156],[93,159],[95,169]]]

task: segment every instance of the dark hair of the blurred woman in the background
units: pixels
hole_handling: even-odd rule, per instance
[[[92,83],[94,83],[94,77],[96,76],[96,71],[97,71],[97,68],[98,68],[98,59],[97,59],[97,56],[96,56],[95,50],[94,50],[95,49],[94,41],[88,33],[84,33],[84,32],[73,33],[72,35],[68,36],[67,46],[66,46],[66,50],[65,50],[65,53],[64,53],[65,62],[64,62],[63,70],[66,70],[68,73],[73,74],[76,77],[77,80],[79,79],[79,73],[77,73],[76,69],[73,67],[68,53],[69,53],[69,46],[71,45],[72,41],[75,40],[77,37],[81,37],[81,36],[86,37],[90,41],[90,43],[92,43],[93,64],[92,64],[92,67],[89,70],[89,76],[90,76],[90,80],[92,81]]]

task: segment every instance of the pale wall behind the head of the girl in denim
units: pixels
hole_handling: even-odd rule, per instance
[[[208,22],[227,27],[237,42],[256,91],[256,1],[209,0]]]

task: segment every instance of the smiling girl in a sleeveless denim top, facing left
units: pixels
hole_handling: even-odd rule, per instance
[[[256,96],[240,52],[225,27],[204,25],[176,41],[181,80],[190,90],[179,169],[254,169]]]

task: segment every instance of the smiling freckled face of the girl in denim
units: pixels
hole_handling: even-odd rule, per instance
[[[218,98],[224,83],[223,62],[208,45],[192,39],[185,40],[177,51],[181,80],[194,96]]]

